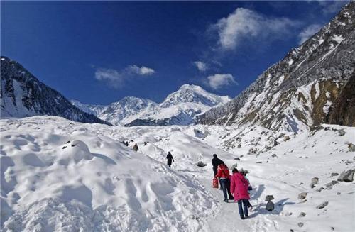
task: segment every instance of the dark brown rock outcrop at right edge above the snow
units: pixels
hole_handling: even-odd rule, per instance
[[[355,72],[329,109],[328,123],[355,126]]]

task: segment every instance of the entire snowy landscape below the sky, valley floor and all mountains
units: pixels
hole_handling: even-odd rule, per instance
[[[351,1],[234,99],[82,104],[1,56],[1,231],[354,231],[354,18]],[[213,154],[249,171],[249,219],[212,188]]]

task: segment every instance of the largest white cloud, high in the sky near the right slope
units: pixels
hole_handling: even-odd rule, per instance
[[[234,50],[242,40],[283,38],[297,25],[297,21],[289,18],[271,18],[256,11],[238,8],[226,18],[219,19],[211,28],[218,33],[220,48]]]

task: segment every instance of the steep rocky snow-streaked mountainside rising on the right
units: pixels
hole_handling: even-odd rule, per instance
[[[337,104],[345,111],[340,118],[329,111],[335,102],[342,101],[339,97],[344,99],[354,91],[354,81],[349,81],[354,79],[354,70],[355,2],[351,1],[331,22],[299,48],[290,50],[244,92],[198,116],[197,123],[259,124],[288,131],[317,126],[329,118],[334,123],[342,120],[344,125],[354,125],[355,114],[348,114],[344,106]],[[346,120],[341,119],[343,116]]]

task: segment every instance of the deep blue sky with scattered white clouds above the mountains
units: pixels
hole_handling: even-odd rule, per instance
[[[1,1],[1,55],[68,99],[236,96],[346,1]]]

